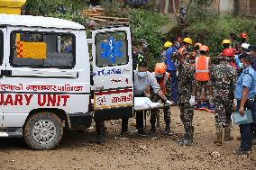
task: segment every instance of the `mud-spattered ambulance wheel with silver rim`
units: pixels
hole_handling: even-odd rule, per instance
[[[37,112],[29,117],[23,129],[27,145],[36,150],[57,147],[63,136],[63,127],[57,115],[52,112]]]

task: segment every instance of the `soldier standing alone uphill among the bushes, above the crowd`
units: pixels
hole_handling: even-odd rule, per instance
[[[177,22],[182,36],[187,37],[187,9],[185,7],[180,6]]]

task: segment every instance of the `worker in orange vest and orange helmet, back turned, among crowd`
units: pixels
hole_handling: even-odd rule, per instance
[[[206,110],[206,90],[209,81],[210,58],[206,56],[209,48],[202,45],[199,49],[200,56],[196,58],[196,80],[197,80],[197,108]]]

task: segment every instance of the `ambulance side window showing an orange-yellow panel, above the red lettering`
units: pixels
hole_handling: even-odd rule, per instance
[[[13,67],[75,66],[75,36],[67,33],[13,31],[11,34]]]

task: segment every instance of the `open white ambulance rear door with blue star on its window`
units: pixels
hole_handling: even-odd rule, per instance
[[[92,56],[95,119],[132,117],[133,58],[130,28],[92,31]]]

